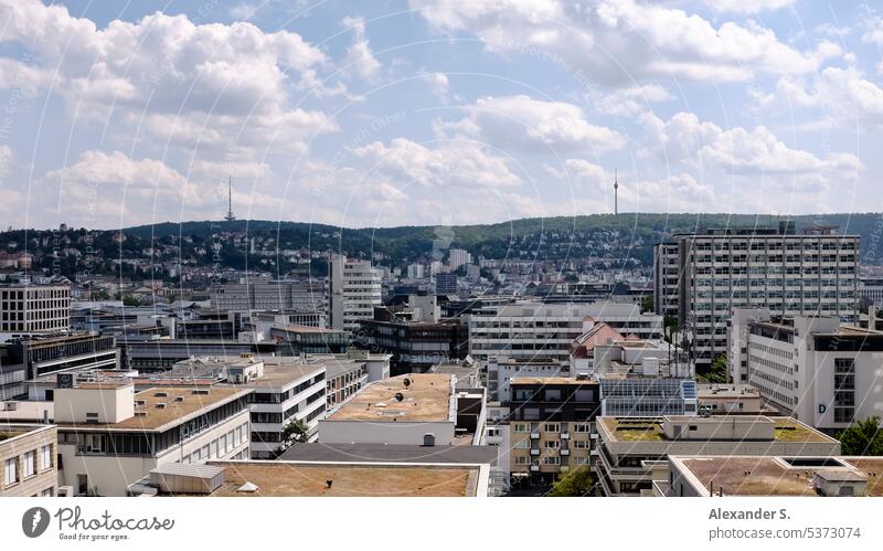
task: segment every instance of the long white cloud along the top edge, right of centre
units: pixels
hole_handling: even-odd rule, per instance
[[[411,6],[437,31],[469,32],[491,52],[536,55],[597,82],[747,81],[758,73],[809,73],[818,65],[811,53],[798,52],[755,22],[715,28],[699,15],[634,0],[411,0]]]

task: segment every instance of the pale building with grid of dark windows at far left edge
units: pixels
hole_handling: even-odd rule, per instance
[[[66,331],[70,326],[70,287],[20,284],[0,286],[0,342]]]

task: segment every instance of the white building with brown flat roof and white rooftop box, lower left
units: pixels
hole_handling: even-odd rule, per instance
[[[129,381],[57,389],[60,486],[71,495],[126,495],[169,463],[247,458],[251,389],[160,386],[136,393]]]

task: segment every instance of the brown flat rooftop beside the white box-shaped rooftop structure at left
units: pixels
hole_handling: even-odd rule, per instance
[[[119,423],[58,423],[58,427],[75,426],[77,431],[160,432],[249,392],[251,389],[230,386],[158,386],[136,393],[135,415]],[[179,401],[179,398],[182,400]]]

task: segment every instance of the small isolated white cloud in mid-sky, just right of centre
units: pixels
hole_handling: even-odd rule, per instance
[[[617,131],[588,123],[579,107],[563,102],[524,95],[482,97],[461,109],[467,118],[438,124],[436,130],[531,152],[608,151],[625,145]]]

